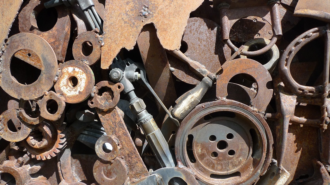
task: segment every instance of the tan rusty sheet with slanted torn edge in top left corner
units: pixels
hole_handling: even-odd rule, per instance
[[[15,20],[17,12],[22,5],[23,0],[2,0],[0,3],[0,42],[2,45],[5,43],[5,39],[8,38],[10,28]]]

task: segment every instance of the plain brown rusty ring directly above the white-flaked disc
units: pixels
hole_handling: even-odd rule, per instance
[[[92,52],[87,56],[83,52],[84,44],[91,43]],[[72,46],[72,54],[76,60],[82,61],[89,66],[94,65],[101,57],[101,41],[98,34],[94,32],[82,32]]]

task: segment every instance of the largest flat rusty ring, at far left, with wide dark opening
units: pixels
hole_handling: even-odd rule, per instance
[[[53,49],[43,38],[32,33],[19,33],[7,41],[6,52],[0,63],[0,86],[6,93],[17,99],[36,99],[54,85],[53,80],[57,71],[57,60]],[[41,73],[37,81],[29,85],[20,84],[11,75],[10,63],[15,53],[22,49],[34,51],[41,61]],[[31,64],[36,66],[37,64]],[[40,65],[40,64],[39,64]]]

